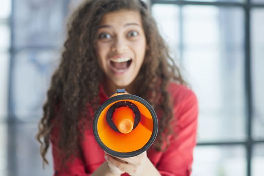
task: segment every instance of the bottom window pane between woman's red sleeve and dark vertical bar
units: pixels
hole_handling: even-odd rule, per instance
[[[198,146],[194,150],[192,176],[246,175],[244,147]]]

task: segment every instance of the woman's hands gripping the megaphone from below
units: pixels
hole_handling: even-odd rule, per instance
[[[105,153],[105,158],[112,173],[122,174],[126,172],[131,176],[142,175],[148,159],[146,151],[130,158],[114,157]]]

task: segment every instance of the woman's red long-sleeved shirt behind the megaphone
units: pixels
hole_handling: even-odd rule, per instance
[[[177,120],[174,131],[177,135],[169,137],[170,145],[165,152],[158,152],[150,147],[147,150],[147,156],[161,175],[188,176],[191,174],[193,149],[196,145],[197,99],[190,89],[182,85],[171,83],[168,91],[174,103],[174,114]],[[108,99],[102,89],[99,96],[101,103]],[[88,129],[84,134],[86,139],[80,143],[82,157],[68,162],[67,167],[60,166],[57,131],[55,128],[51,134],[54,175],[88,176],[105,161],[104,151],[96,142],[93,130]]]

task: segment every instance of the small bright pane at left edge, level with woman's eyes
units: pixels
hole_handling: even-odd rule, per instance
[[[7,52],[10,48],[10,28],[0,24],[0,52]]]

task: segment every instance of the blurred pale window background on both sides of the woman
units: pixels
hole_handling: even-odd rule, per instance
[[[0,1],[0,175],[42,169],[37,124],[81,0]],[[199,101],[193,176],[261,176],[264,167],[264,0],[148,1]]]

